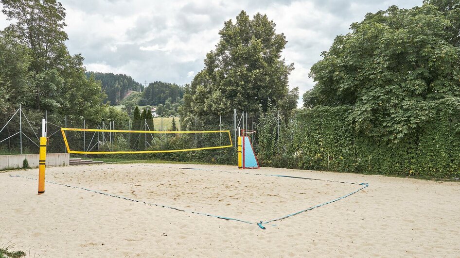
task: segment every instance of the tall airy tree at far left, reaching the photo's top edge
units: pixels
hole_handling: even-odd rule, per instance
[[[57,66],[69,54],[64,41],[65,9],[55,0],[2,0],[2,13],[13,23],[5,31],[16,35],[18,42],[25,44],[32,54],[31,70],[34,72],[35,108],[41,104],[52,105],[50,92],[62,84]],[[45,93],[44,93],[45,92]]]

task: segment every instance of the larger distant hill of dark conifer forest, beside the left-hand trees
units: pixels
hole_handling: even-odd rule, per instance
[[[113,73],[100,73],[100,72],[86,72],[86,76],[94,76],[96,81],[102,82],[102,89],[105,91],[107,97],[104,103],[110,101],[111,105],[118,105],[119,102],[131,91],[137,93],[143,90],[141,83],[134,81],[131,76],[125,74]],[[136,95],[134,95],[136,96]],[[137,102],[135,104],[138,104]]]

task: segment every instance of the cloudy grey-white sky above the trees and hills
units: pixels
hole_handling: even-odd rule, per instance
[[[67,11],[67,46],[82,53],[91,71],[124,73],[139,82],[190,83],[219,41],[224,21],[245,10],[267,14],[288,41],[283,56],[294,63],[290,88],[313,87],[312,64],[338,34],[366,13],[390,5],[411,8],[422,0],[152,1],[62,0]],[[1,6],[1,4],[0,4]],[[0,29],[8,22],[0,14]]]

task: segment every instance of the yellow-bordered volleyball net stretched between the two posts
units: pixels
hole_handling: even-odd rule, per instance
[[[230,130],[150,131],[61,128],[73,154],[137,154],[209,150],[232,147]]]

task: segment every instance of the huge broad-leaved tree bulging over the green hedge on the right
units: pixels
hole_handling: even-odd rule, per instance
[[[460,97],[460,48],[449,32],[454,27],[430,1],[367,14],[312,66],[316,84],[304,94],[304,106],[350,106],[344,119],[355,129],[397,143],[419,128],[431,101]]]

